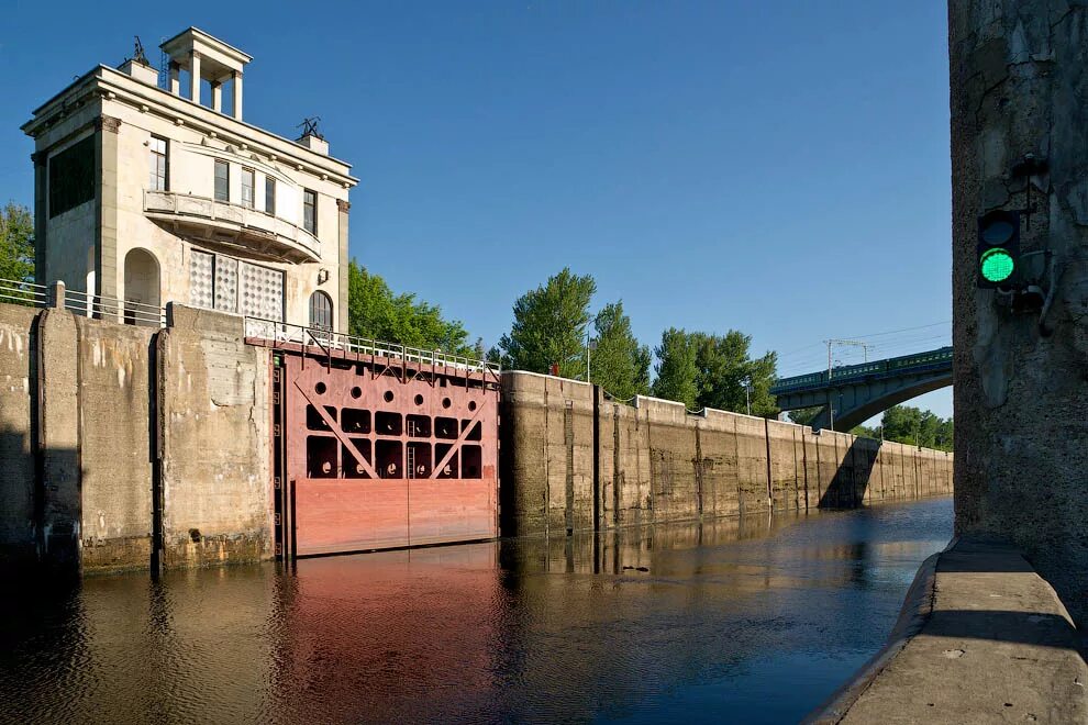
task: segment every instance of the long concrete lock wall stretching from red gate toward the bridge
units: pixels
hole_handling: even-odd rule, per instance
[[[502,378],[502,533],[848,507],[952,493],[952,455],[637,398]],[[596,424],[595,424],[596,423]]]

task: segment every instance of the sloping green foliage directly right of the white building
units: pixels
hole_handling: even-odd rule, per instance
[[[349,333],[358,337],[482,357],[482,343],[469,345],[459,321],[445,320],[441,308],[418,301],[415,294],[393,293],[386,280],[354,259],[347,268],[347,321]]]

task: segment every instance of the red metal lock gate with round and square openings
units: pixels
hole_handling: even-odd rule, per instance
[[[493,372],[280,347],[298,556],[499,534]]]

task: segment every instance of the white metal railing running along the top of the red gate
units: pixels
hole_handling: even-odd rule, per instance
[[[245,317],[245,336],[267,339],[277,344],[295,344],[303,347],[317,345],[324,354],[332,350],[355,356],[375,356],[403,359],[421,366],[445,366],[469,372],[491,372],[498,375],[502,366],[487,360],[478,360],[464,355],[426,350],[419,347],[398,345],[368,337],[356,337],[335,333],[320,327],[295,325],[265,317]]]

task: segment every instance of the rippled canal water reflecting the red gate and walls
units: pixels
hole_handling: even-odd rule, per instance
[[[796,722],[951,499],[8,589],[0,721]]]

